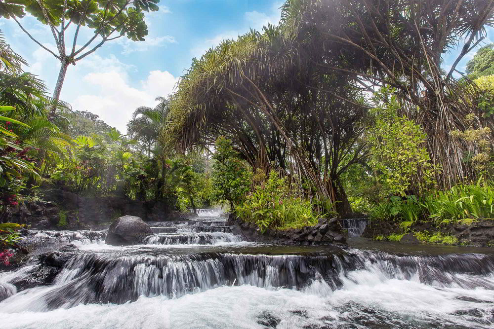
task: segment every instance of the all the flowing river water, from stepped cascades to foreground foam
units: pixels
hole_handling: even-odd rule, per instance
[[[221,219],[152,222],[156,234],[127,247],[105,245],[100,235],[60,233],[81,252],[52,285],[15,292],[12,284],[36,263],[0,273],[0,287],[10,289],[0,302],[0,327],[494,326],[489,249],[363,238],[351,238],[344,251],[260,245],[231,234]]]

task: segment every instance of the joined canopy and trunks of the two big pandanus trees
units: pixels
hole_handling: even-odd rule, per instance
[[[448,187],[474,177],[471,95],[456,65],[493,26],[494,0],[287,0],[267,26],[210,49],[181,78],[166,134],[181,149],[226,136],[254,167],[274,164],[345,210],[339,175],[366,156],[365,92],[396,90],[399,115],[427,134]],[[465,40],[450,70],[443,55]],[[489,123],[492,124],[492,123]],[[475,150],[473,150],[475,152]]]

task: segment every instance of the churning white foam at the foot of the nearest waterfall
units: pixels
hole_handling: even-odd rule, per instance
[[[36,298],[38,289],[33,289],[31,298]],[[465,297],[488,302],[458,299]],[[453,315],[468,310],[486,314],[486,318]],[[311,325],[317,326],[313,328],[366,328],[366,323],[374,323],[373,328],[381,328],[375,324],[386,324],[388,328],[430,328],[431,324],[440,328],[448,325],[472,328],[472,324],[475,328],[492,328],[472,319],[489,321],[493,310],[494,292],[491,290],[438,290],[416,280],[383,279],[371,271],[355,271],[344,287],[334,292],[320,281],[303,291],[244,285],[219,287],[175,299],[140,297],[121,305],[89,304],[49,312],[10,313],[2,307],[0,318],[1,328],[50,329],[266,328],[259,324],[266,317],[281,320],[276,328],[287,329]]]

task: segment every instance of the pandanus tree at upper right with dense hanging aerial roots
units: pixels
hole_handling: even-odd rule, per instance
[[[370,92],[396,88],[402,114],[427,133],[431,161],[442,168],[437,182],[449,187],[475,177],[463,161],[467,143],[451,136],[466,130],[465,117],[476,111],[454,73],[494,25],[493,11],[493,0],[288,0],[281,26],[327,73],[348,76]],[[443,55],[457,45],[461,50],[446,68]]]

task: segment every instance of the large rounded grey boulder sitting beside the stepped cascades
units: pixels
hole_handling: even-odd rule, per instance
[[[127,215],[113,221],[106,235],[106,243],[114,246],[138,245],[152,234],[151,227],[142,218]]]

